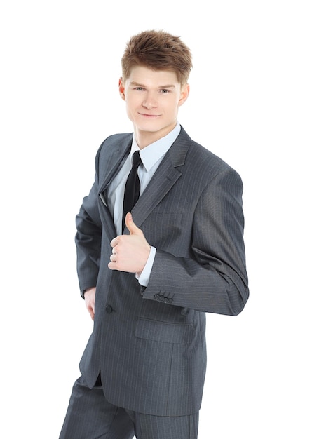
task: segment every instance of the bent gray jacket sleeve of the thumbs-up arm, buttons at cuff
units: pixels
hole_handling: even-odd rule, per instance
[[[193,257],[156,250],[142,295],[198,311],[236,316],[249,296],[243,241],[243,184],[235,170],[216,175],[193,215]]]

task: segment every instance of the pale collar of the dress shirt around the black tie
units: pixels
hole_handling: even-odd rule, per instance
[[[140,151],[140,158],[142,158],[142,164],[147,172],[154,166],[154,164],[163,158],[168,152],[173,142],[179,135],[181,130],[179,122],[170,133],[156,140],[156,142],[147,145],[146,148],[140,150],[135,140],[135,134],[133,135],[133,144],[131,146],[130,157],[135,151]]]

